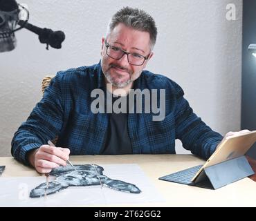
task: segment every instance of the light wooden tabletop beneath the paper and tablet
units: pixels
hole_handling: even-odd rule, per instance
[[[107,206],[256,206],[256,182],[248,177],[217,190],[158,180],[163,175],[204,163],[194,155],[80,155],[71,156],[69,160],[73,164],[137,164],[164,199],[163,202]],[[12,157],[0,157],[0,166],[3,165],[6,169],[1,177],[40,176]]]

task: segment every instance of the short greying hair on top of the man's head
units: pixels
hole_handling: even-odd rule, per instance
[[[109,25],[107,26],[107,36],[119,23],[123,23],[125,26],[134,28],[135,30],[149,32],[150,47],[151,50],[153,50],[154,45],[156,44],[157,28],[153,17],[147,14],[147,12],[130,7],[124,7],[118,10],[109,21]]]

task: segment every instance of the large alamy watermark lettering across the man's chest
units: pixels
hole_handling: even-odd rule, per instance
[[[107,88],[109,87],[112,87],[111,84],[107,84]],[[124,93],[124,89],[118,89],[119,95]],[[113,102],[113,97],[118,96],[109,92],[105,95],[104,90],[97,88],[91,91],[91,97],[95,97],[93,102],[91,102],[91,112],[95,114],[154,113],[155,115],[152,116],[153,121],[165,119],[165,89],[130,89],[129,95],[120,96]],[[105,99],[107,99],[106,108]],[[134,104],[136,104],[136,110]]]

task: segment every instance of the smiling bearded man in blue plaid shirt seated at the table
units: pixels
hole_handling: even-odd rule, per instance
[[[15,133],[12,155],[39,173],[66,165],[70,153],[175,153],[175,139],[195,155],[210,157],[223,137],[193,113],[178,84],[143,70],[153,56],[156,35],[154,19],[143,10],[126,7],[116,12],[102,38],[100,64],[57,73]],[[131,90],[143,92],[144,99],[130,99]],[[109,95],[118,102],[111,108],[120,110],[121,104],[121,113],[106,113],[109,99],[104,98]],[[123,98],[125,102],[118,101]],[[143,111],[138,100],[144,104]],[[164,113],[161,119],[154,118],[158,106],[159,115]],[[137,113],[130,112],[135,108]],[[55,137],[58,147],[47,145]]]

